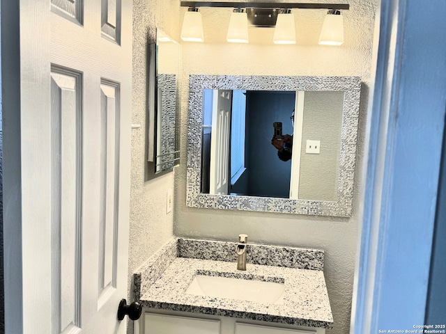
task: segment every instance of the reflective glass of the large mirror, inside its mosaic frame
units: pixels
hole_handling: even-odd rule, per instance
[[[337,200],[343,91],[203,90],[201,193]]]

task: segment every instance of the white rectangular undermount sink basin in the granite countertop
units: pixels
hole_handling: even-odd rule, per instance
[[[187,287],[186,293],[257,303],[281,304],[283,303],[284,283],[196,275]]]

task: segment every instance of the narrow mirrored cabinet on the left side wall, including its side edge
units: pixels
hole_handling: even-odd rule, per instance
[[[155,163],[155,174],[171,170],[180,159],[177,125],[180,45],[160,29],[156,37],[156,44],[149,50],[148,129],[148,159]]]

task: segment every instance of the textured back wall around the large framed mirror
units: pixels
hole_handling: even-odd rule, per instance
[[[282,2],[282,1],[281,1]],[[324,1],[321,1],[324,2]],[[330,2],[330,1],[325,1]],[[360,129],[355,170],[355,198],[351,218],[298,216],[238,212],[217,209],[195,209],[185,206],[186,166],[181,164],[175,175],[176,236],[236,240],[239,233],[249,240],[266,244],[304,246],[325,250],[325,278],[334,317],[334,328],[328,334],[349,331],[351,296],[358,225],[362,175],[364,127],[367,114],[371,51],[376,0],[349,1],[351,10],[344,11],[346,42],[341,47],[317,45],[323,10],[295,12],[296,45],[276,46],[272,29],[250,29],[248,45],[224,42],[230,10],[204,8],[203,44],[183,45],[183,80],[181,110],[182,161],[187,150],[187,91],[189,74],[266,74],[266,75],[337,75],[362,77]],[[181,10],[183,15],[184,8]]]

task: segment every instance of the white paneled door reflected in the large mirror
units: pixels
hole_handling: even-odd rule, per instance
[[[231,140],[232,90],[214,90],[213,94],[209,193],[227,194],[231,182],[229,141]]]

